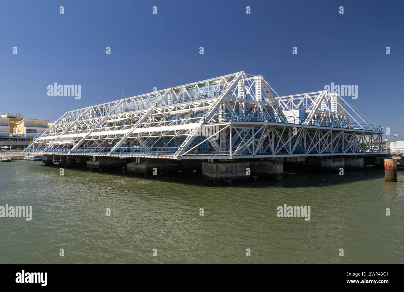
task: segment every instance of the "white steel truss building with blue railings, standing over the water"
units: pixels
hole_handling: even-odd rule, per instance
[[[271,158],[381,151],[383,128],[353,123],[325,90],[278,97],[244,71],[66,112],[25,153]]]

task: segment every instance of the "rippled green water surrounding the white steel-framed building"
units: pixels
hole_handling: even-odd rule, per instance
[[[0,263],[404,263],[403,172],[206,185],[13,161],[0,182],[0,206],[33,212],[0,218]],[[311,220],[278,218],[284,204],[311,206]]]

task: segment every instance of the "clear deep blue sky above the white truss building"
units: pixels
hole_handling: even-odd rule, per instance
[[[54,121],[120,99],[122,84],[130,97],[245,71],[283,95],[358,85],[348,101],[400,139],[403,11],[402,1],[2,0],[0,112]],[[54,82],[80,84],[81,99],[48,97]]]

